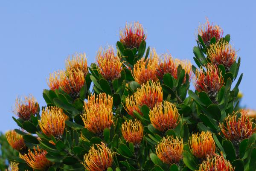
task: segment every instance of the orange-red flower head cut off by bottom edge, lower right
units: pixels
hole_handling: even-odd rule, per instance
[[[224,159],[221,153],[221,155],[215,154],[207,157],[207,160],[199,165],[198,171],[234,171],[234,168],[229,161]]]

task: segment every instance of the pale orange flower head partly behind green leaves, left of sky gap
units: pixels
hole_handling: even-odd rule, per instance
[[[188,81],[190,81],[190,79],[192,77],[192,64],[189,60],[175,59],[175,72],[174,72],[173,77],[175,79],[178,78],[177,68],[178,68],[179,65],[182,67],[182,69],[185,70],[185,77],[184,77],[183,83],[186,82],[186,74],[189,75],[189,80]]]

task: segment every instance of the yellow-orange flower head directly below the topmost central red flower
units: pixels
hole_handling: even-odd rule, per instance
[[[139,84],[144,84],[150,80],[157,81],[157,60],[158,55],[155,49],[153,49],[150,52],[150,58],[146,60],[142,58],[140,61],[137,61],[137,63],[134,64],[134,70],[132,72],[134,80]]]

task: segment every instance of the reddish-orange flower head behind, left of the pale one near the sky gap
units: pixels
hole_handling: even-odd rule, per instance
[[[163,75],[165,75],[166,73],[174,75],[175,70],[176,70],[176,64],[174,59],[172,58],[172,55],[167,53],[164,54],[163,60],[159,60],[159,63],[157,66],[157,70],[156,70],[157,77],[162,80]]]

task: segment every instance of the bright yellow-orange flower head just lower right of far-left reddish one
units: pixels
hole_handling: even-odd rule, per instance
[[[65,129],[65,118],[62,109],[55,106],[43,109],[39,126],[47,136],[61,138]]]

